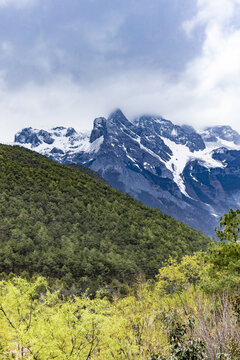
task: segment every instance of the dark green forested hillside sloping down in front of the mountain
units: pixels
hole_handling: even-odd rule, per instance
[[[88,175],[0,145],[0,272],[77,284],[153,277],[209,238]],[[114,280],[114,281],[113,281]]]

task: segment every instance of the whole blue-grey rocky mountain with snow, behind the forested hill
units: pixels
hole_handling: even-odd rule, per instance
[[[219,216],[240,206],[240,135],[229,126],[197,133],[160,116],[130,122],[121,110],[91,132],[26,128],[15,144],[61,163],[80,163],[114,188],[213,234]]]

